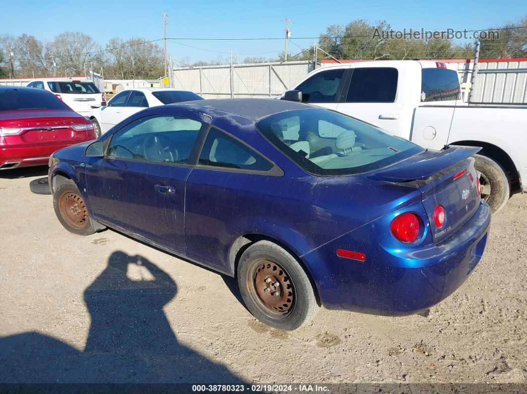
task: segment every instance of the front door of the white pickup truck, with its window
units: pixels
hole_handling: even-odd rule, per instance
[[[311,75],[294,89],[302,92],[303,103],[336,109],[345,76],[346,68],[331,67]]]

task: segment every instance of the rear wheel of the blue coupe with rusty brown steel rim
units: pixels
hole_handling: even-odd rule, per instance
[[[258,241],[243,252],[237,279],[247,309],[271,327],[295,330],[319,310],[306,271],[295,257],[270,241]]]

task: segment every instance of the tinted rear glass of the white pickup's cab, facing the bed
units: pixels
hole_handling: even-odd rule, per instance
[[[460,82],[454,70],[423,68],[421,101],[457,100],[460,98]]]

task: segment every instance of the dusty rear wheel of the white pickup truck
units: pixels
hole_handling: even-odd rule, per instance
[[[503,167],[483,155],[474,155],[477,176],[480,179],[481,198],[491,207],[495,214],[505,206],[511,193],[511,184]]]

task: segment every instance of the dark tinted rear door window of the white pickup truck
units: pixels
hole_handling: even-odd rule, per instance
[[[393,103],[397,93],[397,69],[364,67],[353,69],[346,103]]]

